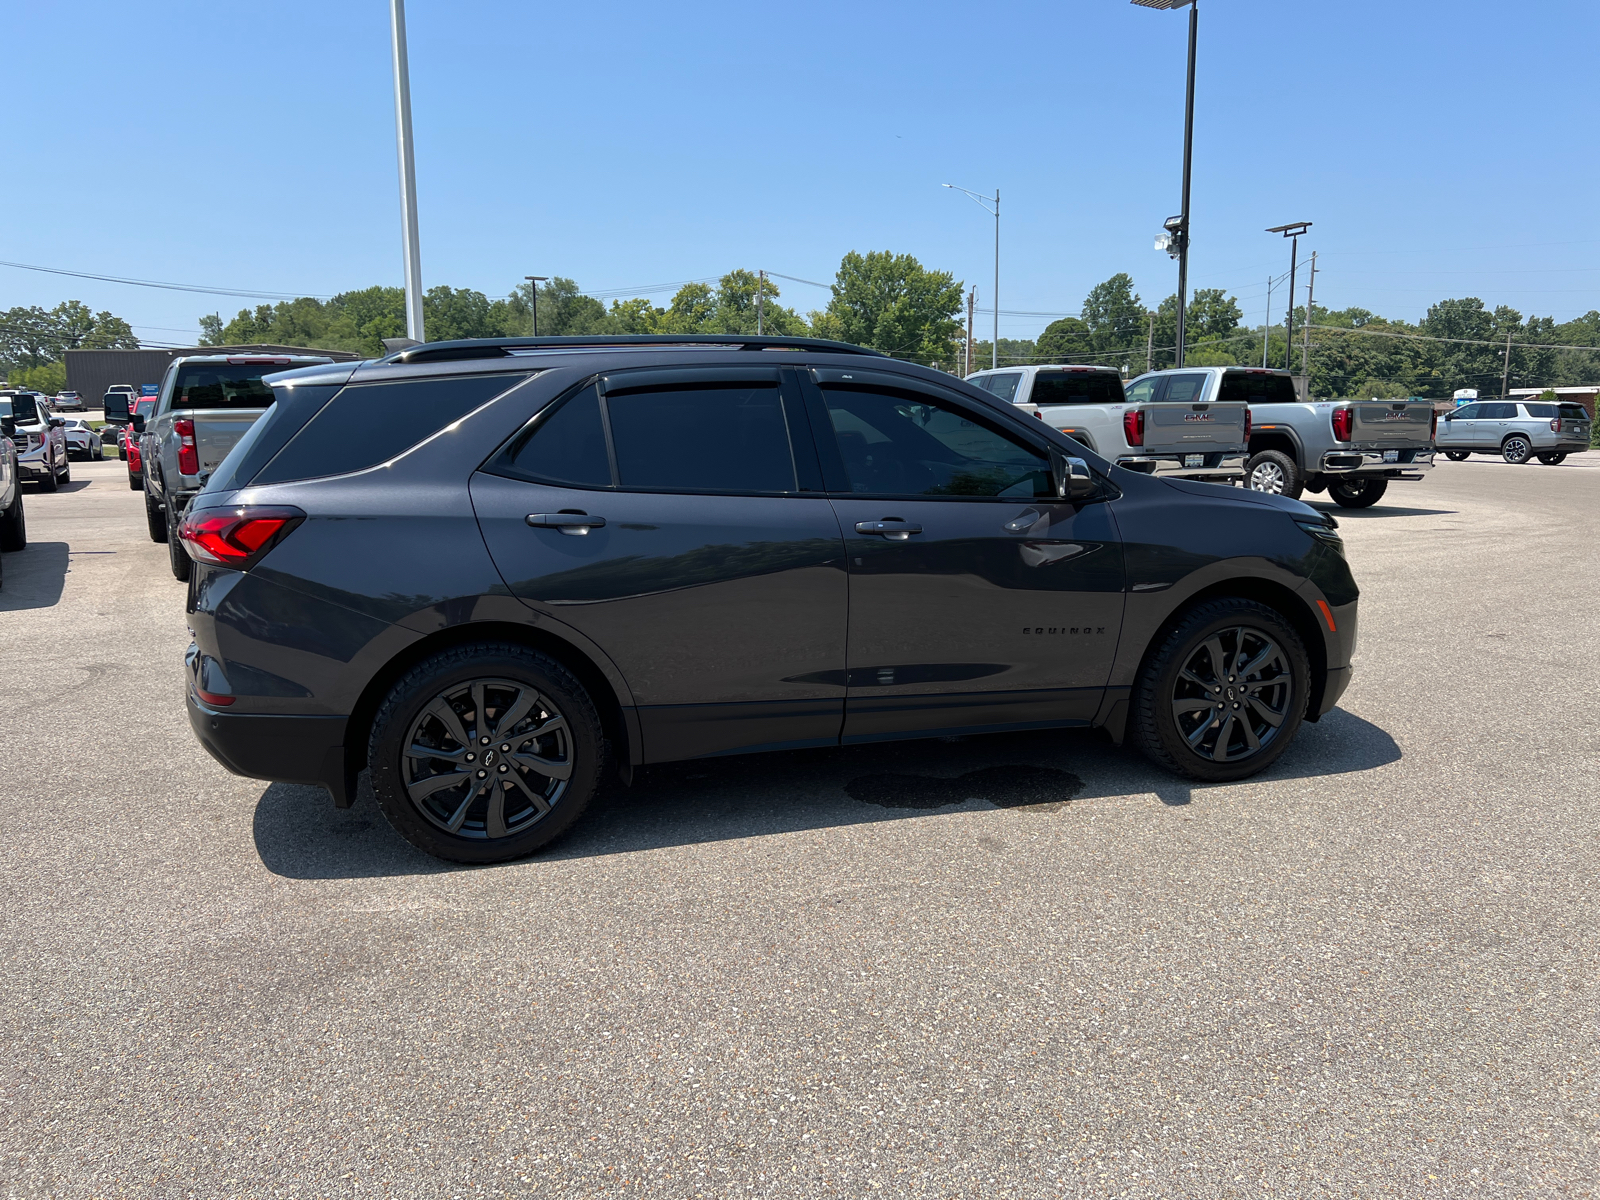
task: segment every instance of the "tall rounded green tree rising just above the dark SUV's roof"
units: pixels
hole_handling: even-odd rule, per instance
[[[819,338],[854,342],[915,362],[954,362],[962,285],[910,254],[850,251],[838,264],[834,298],[811,314]]]

